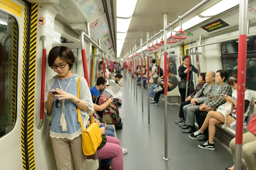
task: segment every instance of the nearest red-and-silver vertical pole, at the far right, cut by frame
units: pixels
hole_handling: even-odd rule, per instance
[[[242,165],[243,121],[244,121],[244,91],[246,78],[247,54],[247,8],[248,0],[240,0],[239,5],[239,42],[238,42],[238,75],[237,75],[237,116],[236,116],[236,146],[235,170]]]

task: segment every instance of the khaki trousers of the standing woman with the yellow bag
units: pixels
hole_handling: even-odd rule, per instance
[[[52,147],[57,170],[71,170],[71,155],[73,170],[85,170],[86,156],[82,149],[81,135],[73,140],[52,138]]]

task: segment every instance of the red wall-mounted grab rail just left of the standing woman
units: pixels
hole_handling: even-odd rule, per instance
[[[38,129],[40,130],[44,123],[44,90],[45,90],[45,65],[46,65],[46,40],[45,37],[40,37],[43,45],[42,52],[42,72],[41,72],[41,100],[40,100],[40,121]]]

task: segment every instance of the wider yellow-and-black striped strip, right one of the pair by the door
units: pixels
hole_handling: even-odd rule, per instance
[[[28,94],[28,153],[29,170],[35,169],[34,157],[34,97],[35,97],[35,54],[37,38],[37,14],[38,4],[32,4],[31,10],[31,31],[30,31],[30,51],[29,51],[29,94]]]

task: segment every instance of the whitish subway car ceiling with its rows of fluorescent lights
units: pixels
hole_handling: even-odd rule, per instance
[[[238,31],[239,0],[229,1],[229,6],[217,9],[221,7],[221,3],[226,1],[228,0],[210,0],[209,3],[186,17],[182,22],[183,31],[188,37],[186,40],[177,40],[176,43],[167,44],[167,46],[173,48],[196,42],[200,35],[203,38],[213,37],[212,41],[217,41],[214,37]],[[157,2],[156,7],[154,0],[131,0],[127,8],[125,8],[126,3],[118,0],[110,2],[102,0],[29,0],[29,2],[39,3],[39,8],[44,8],[46,3],[56,3],[61,10],[55,20],[72,28],[77,33],[79,31],[87,32],[86,22],[89,22],[91,38],[95,42],[100,38],[105,46],[103,49],[105,53],[108,50],[111,57],[125,58],[130,55],[134,46],[140,47],[140,38],[143,38],[143,43],[146,41],[146,31],[149,31],[149,37],[153,37],[160,29],[163,29],[163,13],[168,14],[167,23],[172,23],[179,15],[183,15],[202,1],[183,0],[174,4],[170,0],[161,0]],[[256,1],[250,0],[248,7],[256,8]],[[255,12],[248,11],[247,13],[250,27],[255,26]],[[179,25],[180,23],[177,23],[173,26],[173,34],[179,30]],[[210,29],[207,25],[215,25],[216,28]],[[69,42],[75,42],[75,40],[71,40],[72,36],[61,36]],[[167,37],[169,36],[170,29],[167,30]],[[218,40],[223,39],[225,37],[218,38]],[[157,42],[160,40],[161,35],[157,36]],[[152,42],[150,43],[152,44]],[[143,51],[145,48],[146,45],[143,46]]]

